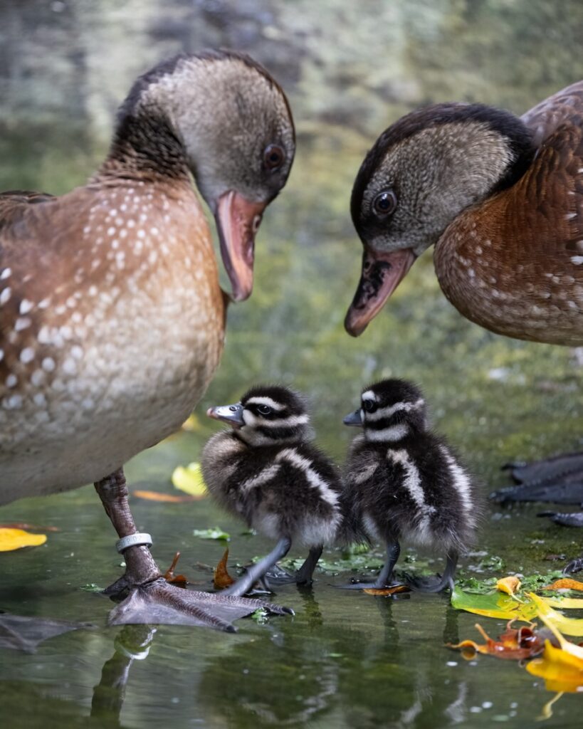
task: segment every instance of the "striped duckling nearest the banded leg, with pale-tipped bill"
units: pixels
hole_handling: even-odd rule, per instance
[[[249,592],[292,542],[310,553],[294,577],[284,580],[310,584],[323,546],[334,542],[342,522],[342,487],[332,461],[310,443],[313,433],[302,397],[283,386],[259,385],[235,405],[210,408],[207,415],[232,426],[211,437],[203,450],[208,490],[249,527],[278,540],[222,594]]]

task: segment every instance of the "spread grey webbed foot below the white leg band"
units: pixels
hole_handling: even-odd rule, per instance
[[[162,577],[145,585],[136,585],[128,597],[109,614],[110,625],[162,623],[165,625],[200,625],[235,633],[232,620],[263,608],[273,615],[293,615],[286,607],[262,600],[169,585]]]

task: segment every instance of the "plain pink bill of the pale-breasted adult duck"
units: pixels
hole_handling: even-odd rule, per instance
[[[266,204],[251,202],[234,190],[221,195],[217,203],[216,227],[233,301],[246,300],[253,290],[255,233]]]

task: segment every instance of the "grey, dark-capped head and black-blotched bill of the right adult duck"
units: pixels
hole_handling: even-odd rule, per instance
[[[348,333],[364,332],[450,222],[514,184],[533,154],[531,133],[520,119],[482,104],[435,104],[386,129],[352,190],[351,215],[364,255],[345,319]]]

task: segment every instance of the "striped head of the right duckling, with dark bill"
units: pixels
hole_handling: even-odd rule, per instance
[[[394,443],[427,429],[423,393],[405,380],[383,380],[365,387],[361,406],[344,418],[345,425],[360,426],[374,443]]]

